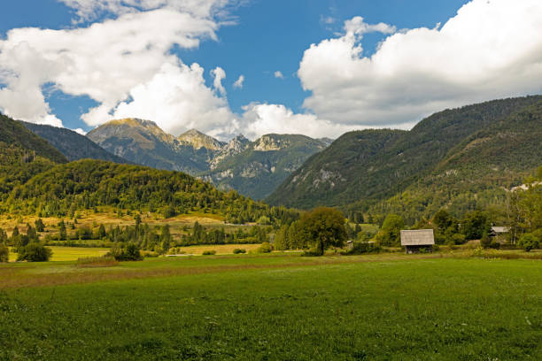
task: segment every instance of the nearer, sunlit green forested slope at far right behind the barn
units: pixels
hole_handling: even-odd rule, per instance
[[[433,170],[372,211],[412,210],[430,217],[445,207],[456,216],[504,204],[508,189],[542,165],[542,102],[499,120],[460,142]],[[381,208],[382,207],[382,208]]]

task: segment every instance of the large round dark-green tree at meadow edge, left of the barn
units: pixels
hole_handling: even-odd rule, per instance
[[[346,240],[345,216],[334,208],[319,207],[299,220],[299,233],[314,245],[314,253],[323,255],[329,247],[342,247]]]

